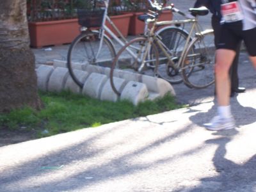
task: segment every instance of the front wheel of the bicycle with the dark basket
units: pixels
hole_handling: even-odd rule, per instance
[[[74,70],[77,69],[77,65],[99,65],[101,67],[111,67],[113,58],[115,58],[115,48],[113,44],[103,36],[103,42],[100,54],[98,58],[95,58],[99,51],[99,32],[90,31],[81,33],[78,35],[70,45],[67,55],[67,67],[70,76],[74,82],[81,88],[84,86],[84,82],[79,79]]]

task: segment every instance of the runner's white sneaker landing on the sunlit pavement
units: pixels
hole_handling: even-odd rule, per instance
[[[220,131],[223,129],[234,129],[236,127],[235,120],[232,116],[229,118],[221,118],[214,116],[209,124],[204,124],[205,128],[211,131]]]

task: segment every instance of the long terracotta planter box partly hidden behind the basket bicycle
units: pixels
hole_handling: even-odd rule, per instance
[[[132,13],[125,13],[123,15],[111,16],[110,18],[122,35],[127,36],[131,17]],[[108,22],[107,26],[114,32],[114,29]],[[79,35],[79,28],[77,19],[29,22],[31,47],[71,43]],[[116,32],[114,33],[118,35]]]

